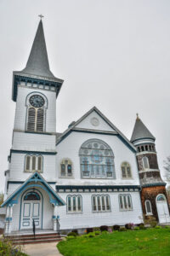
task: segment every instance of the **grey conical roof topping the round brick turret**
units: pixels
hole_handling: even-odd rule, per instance
[[[137,119],[133,128],[133,135],[131,137],[131,142],[133,143],[134,141],[142,138],[150,138],[154,141],[156,139],[148,130],[148,128],[144,125],[141,119],[139,119],[139,116],[137,115]]]

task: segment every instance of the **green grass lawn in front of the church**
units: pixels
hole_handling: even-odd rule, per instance
[[[170,229],[128,230],[60,241],[65,256],[170,255]]]

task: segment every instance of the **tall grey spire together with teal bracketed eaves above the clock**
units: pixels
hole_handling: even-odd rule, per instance
[[[42,26],[42,19],[39,21],[36,37],[34,38],[31,47],[31,53],[26,63],[26,67],[19,72],[14,72],[14,101],[16,101],[18,84],[20,84],[20,82],[29,82],[31,84],[43,84],[50,87],[53,86],[56,90],[56,96],[58,96],[60,87],[64,82],[62,79],[54,77],[54,74],[50,71],[48,62],[48,52]]]

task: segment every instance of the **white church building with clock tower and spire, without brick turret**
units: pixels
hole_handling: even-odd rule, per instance
[[[143,222],[137,149],[94,107],[56,132],[54,77],[40,20],[26,68],[13,74],[16,102],[5,172],[5,232],[85,229]]]

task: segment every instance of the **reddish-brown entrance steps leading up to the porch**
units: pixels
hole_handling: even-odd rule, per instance
[[[33,234],[15,234],[11,236],[5,236],[5,238],[11,240],[14,245],[24,245],[33,243],[45,243],[61,241],[62,238],[58,233],[37,233],[35,236]]]

